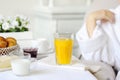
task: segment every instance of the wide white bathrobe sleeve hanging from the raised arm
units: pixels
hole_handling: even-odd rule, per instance
[[[85,24],[76,34],[82,57],[85,60],[101,61],[110,65],[114,65],[114,58],[109,53],[108,35],[104,32],[100,24],[98,24],[93,32],[93,36],[89,38]]]

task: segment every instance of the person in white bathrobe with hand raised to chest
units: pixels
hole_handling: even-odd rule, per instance
[[[116,9],[90,13],[82,28],[77,32],[76,39],[84,60],[103,62],[119,71],[120,6]],[[109,72],[103,74],[106,76]],[[111,77],[114,78],[114,73]],[[120,80],[119,77],[120,72],[116,80]]]

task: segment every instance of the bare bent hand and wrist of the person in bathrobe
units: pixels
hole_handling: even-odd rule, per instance
[[[91,37],[95,29],[97,20],[101,20],[101,22],[103,23],[104,22],[114,23],[115,16],[114,13],[109,10],[99,10],[90,13],[86,20],[87,20],[86,26],[87,26],[88,35],[89,37]]]

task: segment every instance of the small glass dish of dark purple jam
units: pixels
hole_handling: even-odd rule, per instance
[[[23,52],[24,55],[26,55],[26,53],[29,53],[31,55],[31,58],[37,58],[37,48],[24,48]]]

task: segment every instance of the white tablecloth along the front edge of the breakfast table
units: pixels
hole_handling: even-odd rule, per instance
[[[32,64],[28,76],[16,76],[11,70],[0,72],[0,80],[97,80],[89,71],[58,69]]]

